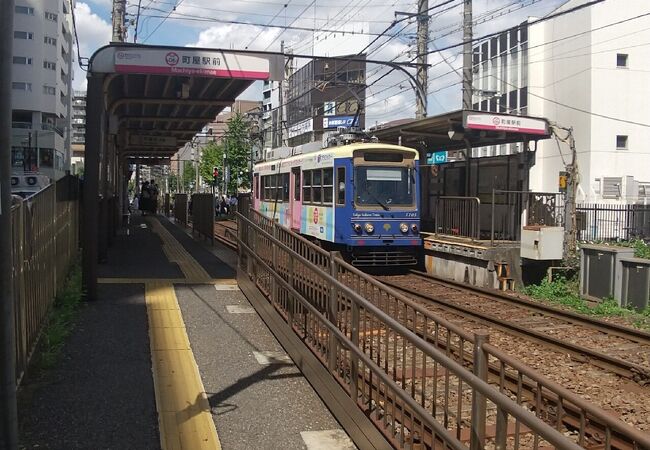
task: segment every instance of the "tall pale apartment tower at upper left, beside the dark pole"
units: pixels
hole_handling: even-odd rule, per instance
[[[12,169],[58,179],[70,168],[73,0],[17,0]]]

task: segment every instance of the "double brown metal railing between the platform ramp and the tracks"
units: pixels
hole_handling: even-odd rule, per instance
[[[240,269],[398,448],[615,448],[645,434],[251,212]]]

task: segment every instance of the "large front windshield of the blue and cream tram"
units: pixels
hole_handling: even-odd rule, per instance
[[[355,201],[358,206],[413,205],[415,174],[408,167],[357,167]]]

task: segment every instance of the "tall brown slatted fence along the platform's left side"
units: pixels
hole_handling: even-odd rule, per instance
[[[79,180],[67,176],[11,209],[16,381],[79,249]]]

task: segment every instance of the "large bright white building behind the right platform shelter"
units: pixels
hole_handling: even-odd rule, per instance
[[[582,3],[570,0],[553,13]],[[648,13],[646,0],[610,0],[530,19],[474,47],[475,109],[542,116],[573,129],[580,202],[650,200],[650,53],[640,45],[650,39]],[[521,151],[510,144],[473,156]],[[540,142],[530,189],[556,192],[570,162],[567,143]]]

